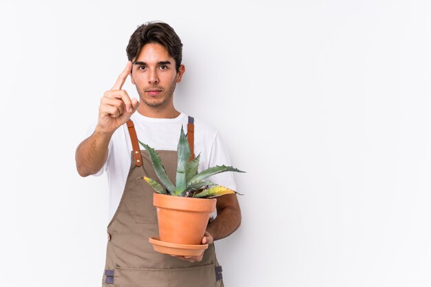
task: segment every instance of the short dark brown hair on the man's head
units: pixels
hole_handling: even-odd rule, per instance
[[[135,59],[142,47],[148,43],[159,43],[169,52],[169,56],[174,58],[177,72],[182,61],[182,43],[180,37],[174,29],[167,23],[147,22],[138,26],[130,36],[126,52],[129,61]]]

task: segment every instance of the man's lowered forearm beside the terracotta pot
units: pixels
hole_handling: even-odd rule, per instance
[[[238,203],[238,201],[236,201],[236,195],[230,196],[235,196],[235,202]],[[213,240],[220,240],[231,235],[241,224],[241,211],[238,204],[233,206],[220,206],[217,209],[217,213],[215,220],[210,222],[207,226],[207,232],[213,237]]]

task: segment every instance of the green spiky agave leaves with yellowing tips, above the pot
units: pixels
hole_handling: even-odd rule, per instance
[[[149,153],[149,158],[151,159],[151,164],[153,164],[154,171],[161,184],[152,178],[144,177],[145,182],[147,182],[157,193],[185,196],[188,198],[213,198],[215,196],[237,193],[227,187],[222,187],[214,182],[207,180],[210,176],[217,173],[222,173],[225,171],[236,171],[244,172],[233,167],[227,167],[225,165],[210,167],[204,171],[198,173],[200,154],[193,160],[189,161],[190,158],[190,148],[187,137],[184,130],[181,127],[180,140],[178,141],[178,165],[176,171],[176,184],[174,185],[171,180],[169,180],[165,168],[162,165],[162,160],[158,153],[154,151],[153,148],[145,143],[140,142],[147,152]],[[238,193],[240,194],[240,193]]]

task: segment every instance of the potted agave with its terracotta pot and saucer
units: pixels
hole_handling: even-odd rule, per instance
[[[176,184],[169,180],[165,168],[158,153],[153,148],[140,142],[147,152],[154,171],[160,182],[145,176],[143,179],[155,191],[153,204],[156,206],[159,237],[150,237],[156,251],[174,255],[185,254],[185,250],[202,249],[201,240],[211,213],[215,210],[215,197],[237,193],[227,187],[222,187],[208,180],[210,176],[225,171],[244,172],[225,165],[210,167],[198,173],[198,155],[189,161],[190,148],[184,130],[181,128],[180,140],[178,141],[178,165],[176,171]],[[238,193],[240,194],[240,193]],[[165,249],[160,251],[160,246]],[[182,247],[182,251],[166,250],[168,246]],[[194,247],[193,247],[194,246]],[[159,250],[157,250],[159,248]],[[204,247],[206,248],[206,247]],[[178,253],[179,252],[179,253]]]

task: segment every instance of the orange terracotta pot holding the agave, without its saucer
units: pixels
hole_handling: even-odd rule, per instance
[[[215,198],[184,198],[154,193],[160,241],[201,244],[216,202]]]

